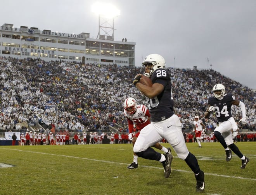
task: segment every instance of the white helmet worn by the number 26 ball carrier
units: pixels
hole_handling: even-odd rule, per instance
[[[146,72],[150,68],[150,72]],[[146,56],[145,60],[142,62],[142,74],[146,77],[150,77],[153,72],[158,68],[165,68],[164,58],[156,53]]]

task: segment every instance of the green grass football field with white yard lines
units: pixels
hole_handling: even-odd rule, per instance
[[[202,143],[202,148],[187,143],[205,173],[204,194],[255,193],[256,142],[236,145],[250,158],[246,169],[240,169],[241,160],[235,154],[226,162],[220,143]],[[131,144],[1,146],[0,195],[197,194],[194,174],[172,153],[172,173],[166,179],[157,161],[139,158],[138,169],[126,169],[133,160]],[[8,165],[13,167],[5,168]]]

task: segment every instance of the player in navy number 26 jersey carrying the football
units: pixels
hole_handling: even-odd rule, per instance
[[[182,134],[182,125],[177,115],[173,113],[173,96],[171,79],[165,69],[165,60],[161,55],[150,54],[142,63],[144,74],[150,77],[153,85],[146,86],[139,82],[142,74],[137,74],[133,84],[149,98],[149,113],[151,123],[140,131],[134,147],[139,157],[156,160],[163,163],[165,174],[171,172],[171,159],[166,154],[154,151],[150,146],[163,138],[173,147],[180,159],[185,160],[196,178],[196,191],[204,191],[204,172],[200,170],[196,157],[189,152]]]

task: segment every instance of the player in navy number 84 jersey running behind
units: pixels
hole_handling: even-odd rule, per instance
[[[208,108],[204,113],[204,117],[209,118],[210,114],[215,111],[219,126],[214,129],[214,135],[226,151],[226,161],[230,161],[232,158],[231,149],[242,160],[241,169],[244,169],[250,159],[244,156],[233,142],[232,130],[234,132],[237,130],[237,123],[231,115],[232,105],[241,108],[242,119],[240,121],[246,123],[246,108],[244,103],[235,99],[235,96],[232,94],[226,94],[225,87],[222,84],[216,84],[213,86],[213,96],[208,98]]]

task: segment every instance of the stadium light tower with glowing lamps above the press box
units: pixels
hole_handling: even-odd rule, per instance
[[[99,32],[97,39],[114,41],[114,17],[120,15],[120,10],[109,3],[95,3],[92,12],[99,15]]]

